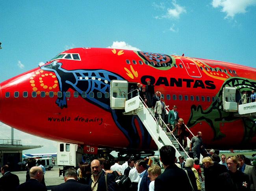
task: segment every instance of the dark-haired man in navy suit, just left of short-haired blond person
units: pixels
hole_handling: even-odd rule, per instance
[[[148,178],[147,163],[145,160],[139,160],[137,172],[139,173],[138,191],[148,191],[150,179]]]

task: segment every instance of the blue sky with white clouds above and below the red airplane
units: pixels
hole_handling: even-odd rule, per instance
[[[0,7],[0,82],[72,47],[184,53],[255,67],[256,0],[2,0]],[[7,138],[9,127],[0,127]],[[15,130],[19,137],[23,144],[35,139]],[[52,141],[41,143],[25,153],[56,152]]]

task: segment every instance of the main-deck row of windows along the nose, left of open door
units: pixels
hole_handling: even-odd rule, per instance
[[[71,93],[69,91],[65,92],[65,95],[67,98],[70,98],[71,97]],[[27,98],[28,97],[28,92],[27,91],[24,91],[22,93],[22,96],[24,98]],[[32,91],[32,95],[31,95],[33,98],[37,97],[37,92],[36,91]],[[41,91],[39,93],[39,96],[41,96],[42,98],[46,97],[46,96],[49,96],[50,98],[54,97],[54,96],[58,96],[58,98],[61,98],[63,96],[63,93],[61,91],[58,91],[58,92],[53,92],[53,91],[49,91],[49,92],[45,92],[45,91]],[[74,91],[73,93],[73,97],[74,98],[78,98],[79,96],[79,93],[77,91]],[[89,92],[89,94],[86,94],[86,92],[82,92],[81,93],[81,96],[82,98],[86,98],[87,96],[89,96],[90,98],[94,98],[94,92]],[[97,98],[102,98],[102,93],[101,92],[97,92]],[[10,92],[6,92],[6,98],[9,98],[10,97]],[[15,91],[14,92],[14,97],[15,98],[18,98],[19,97],[19,91]],[[105,98],[109,98],[109,93],[106,92],[104,93],[104,97]]]

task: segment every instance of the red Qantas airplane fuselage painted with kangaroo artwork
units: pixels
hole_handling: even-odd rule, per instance
[[[155,150],[137,116],[109,106],[111,80],[147,80],[178,107],[208,148],[255,148],[256,116],[223,111],[222,89],[256,89],[256,69],[214,60],[119,49],[75,48],[0,84],[0,121],[51,140]]]

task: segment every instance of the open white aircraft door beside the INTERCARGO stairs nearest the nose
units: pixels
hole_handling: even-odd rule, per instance
[[[124,109],[127,93],[128,93],[128,81],[112,80],[110,82],[111,109]]]

